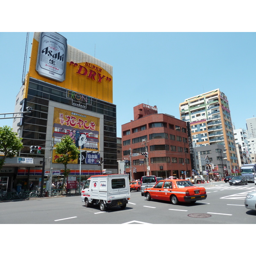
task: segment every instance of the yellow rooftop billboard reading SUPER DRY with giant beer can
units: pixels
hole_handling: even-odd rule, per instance
[[[29,76],[113,103],[113,67],[68,44],[65,58],[66,38],[56,34],[58,37],[53,36],[55,42],[50,38],[55,33],[34,33]],[[61,37],[63,40],[60,40]]]

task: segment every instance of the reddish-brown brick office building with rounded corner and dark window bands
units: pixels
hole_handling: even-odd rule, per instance
[[[147,153],[148,161],[142,153]],[[186,122],[157,113],[156,106],[134,107],[134,120],[122,125],[122,157],[131,160],[125,171],[132,169],[132,179],[143,175],[191,177]]]

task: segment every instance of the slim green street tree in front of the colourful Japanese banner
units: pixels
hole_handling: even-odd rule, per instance
[[[74,161],[78,158],[79,150],[77,149],[73,139],[69,135],[66,135],[59,143],[55,145],[55,152],[60,154],[60,157],[58,157],[55,161],[57,163],[64,164],[64,170],[62,170],[62,175],[64,175],[64,185],[66,177],[70,174],[70,169],[67,169],[67,164],[70,161]]]

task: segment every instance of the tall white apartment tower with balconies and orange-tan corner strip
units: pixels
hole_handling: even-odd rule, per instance
[[[239,169],[229,103],[223,92],[216,89],[185,99],[180,103],[180,119],[190,122],[197,146],[224,145],[230,168]]]

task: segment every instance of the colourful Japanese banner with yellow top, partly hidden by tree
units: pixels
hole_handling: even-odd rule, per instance
[[[54,108],[52,137],[54,145],[65,135],[70,136],[76,147],[81,150],[81,163],[98,164],[100,119],[79,112]],[[58,154],[53,150],[52,163],[56,163]],[[80,163],[78,160],[70,163]]]

